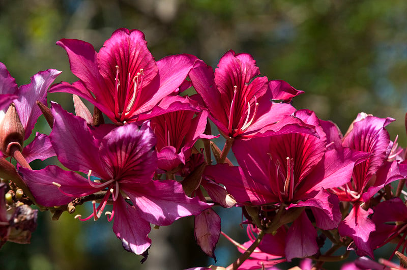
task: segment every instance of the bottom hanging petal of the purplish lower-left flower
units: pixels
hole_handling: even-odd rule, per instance
[[[151,226],[142,213],[128,204],[119,195],[114,202],[114,222],[113,232],[121,239],[123,248],[128,252],[142,254],[151,245],[151,239],[148,237]]]

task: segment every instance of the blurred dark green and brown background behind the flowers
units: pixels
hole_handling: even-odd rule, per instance
[[[405,147],[405,14],[405,0],[0,0],[0,62],[19,85],[49,68],[63,71],[56,81],[73,82],[57,40],[81,39],[99,50],[115,29],[137,28],[156,59],[190,53],[215,68],[227,50],[248,52],[263,76],[305,91],[295,99],[296,108],[331,119],[343,133],[361,111],[393,117],[391,138],[399,134]],[[73,111],[70,95],[52,94],[48,100]],[[37,128],[49,132],[42,117]],[[224,219],[222,230],[246,241],[239,209],[216,211]],[[150,257],[141,265],[140,256],[122,249],[105,219],[82,223],[64,213],[55,222],[49,212],[39,213],[32,244],[7,243],[0,250],[0,268],[182,269],[213,263],[194,243],[193,218],[150,236]],[[376,255],[391,253],[386,252]],[[223,266],[237,258],[222,236],[216,256]]]

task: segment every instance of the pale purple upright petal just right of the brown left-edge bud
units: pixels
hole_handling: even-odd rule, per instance
[[[18,100],[14,101],[21,124],[25,130],[25,137],[30,137],[38,117],[42,114],[36,104],[37,100],[47,103],[47,90],[61,71],[49,69],[40,71],[31,77],[31,83],[19,87]]]

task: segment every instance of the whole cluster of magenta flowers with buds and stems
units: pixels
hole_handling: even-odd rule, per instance
[[[389,242],[405,259],[407,206],[400,196],[407,166],[386,130],[394,119],[360,113],[342,135],[313,111],[296,110],[292,99],[303,92],[259,77],[246,53],[226,52],[214,71],[189,54],[156,62],[137,30],[118,29],[99,52],[81,40],[57,44],[79,78],[72,84],[51,86],[60,71],[46,70],[18,87],[0,63],[0,247],[29,241],[37,211],[27,205],[57,219],[90,201],[93,212],[76,218],[104,213],[123,247],[146,258],[151,224],[186,216],[195,216],[197,244],[215,258],[221,229],[212,207],[220,205],[242,208],[250,238],[242,245],[230,239],[242,256],[228,269],[293,258],[312,259],[317,269],[351,250],[374,258],[373,250]],[[182,95],[190,87],[197,94]],[[55,92],[73,94],[76,115],[47,106],[47,93]],[[31,136],[41,114],[52,131]],[[211,141],[208,119],[226,139],[222,150]],[[240,166],[227,158],[230,150]],[[69,170],[30,167],[53,156]],[[335,255],[341,247],[344,254]]]

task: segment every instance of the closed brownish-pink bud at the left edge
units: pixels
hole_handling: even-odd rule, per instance
[[[0,150],[6,156],[11,156],[13,146],[22,151],[24,143],[24,127],[17,114],[14,103],[10,105],[0,123]]]

